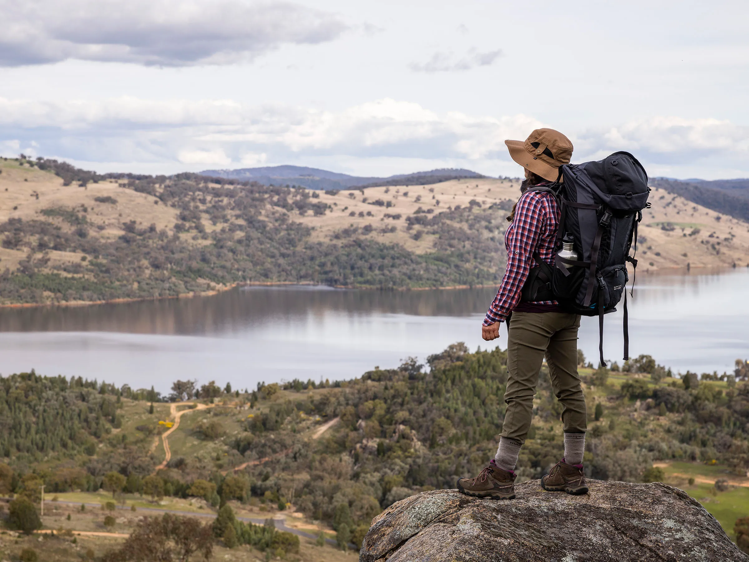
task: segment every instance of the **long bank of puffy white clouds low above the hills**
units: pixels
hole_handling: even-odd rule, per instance
[[[6,153],[17,154],[36,142],[35,151],[45,156],[139,166],[160,162],[172,171],[180,165],[330,166],[338,161],[367,167],[367,161],[399,161],[434,162],[434,167],[455,163],[507,174],[513,165],[504,140],[525,139],[543,126],[549,124],[530,115],[440,113],[390,98],[341,111],[232,100],[121,97],[82,103],[0,98],[0,149]],[[699,169],[711,177],[749,175],[749,127],[730,121],[655,117],[563,132],[574,142],[575,162],[626,150],[649,169],[667,169],[676,177],[700,175]],[[688,169],[688,176],[679,169]]]

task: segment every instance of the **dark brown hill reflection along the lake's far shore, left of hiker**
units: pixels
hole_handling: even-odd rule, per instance
[[[348,291],[320,286],[236,288],[213,297],[97,306],[0,309],[0,331],[238,333],[279,318],[330,312],[465,316],[486,312],[495,288],[450,291]]]

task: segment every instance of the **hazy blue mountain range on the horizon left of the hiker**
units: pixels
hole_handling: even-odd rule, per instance
[[[426,185],[437,184],[459,178],[483,178],[485,176],[467,169],[441,168],[428,172],[391,175],[387,178],[367,178],[329,172],[305,166],[266,166],[238,170],[204,170],[201,175],[213,178],[257,181],[265,185],[298,185],[313,190],[345,190],[352,187],[375,187],[378,185]]]

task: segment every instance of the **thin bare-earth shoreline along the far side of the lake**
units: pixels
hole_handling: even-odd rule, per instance
[[[706,266],[702,268],[669,268],[669,269],[659,269],[655,271],[650,271],[649,269],[646,269],[645,271],[638,271],[640,275],[659,275],[659,274],[675,274],[679,271],[682,272],[683,275],[704,275],[704,274],[724,274],[728,273],[729,271],[736,271],[739,269],[738,267],[731,267],[731,266]],[[628,272],[631,274],[630,268],[628,268]],[[139,302],[145,302],[147,300],[170,300],[170,299],[180,299],[180,298],[196,298],[196,297],[213,297],[216,294],[223,293],[226,291],[231,291],[233,288],[237,287],[282,287],[282,286],[291,286],[291,285],[297,285],[297,286],[320,286],[320,287],[328,287],[328,288],[336,288],[336,289],[342,289],[342,290],[349,290],[349,291],[455,291],[460,289],[466,289],[466,288],[499,288],[500,282],[496,283],[489,283],[489,284],[482,284],[482,285],[446,285],[443,287],[398,287],[398,288],[388,288],[388,289],[382,289],[377,287],[357,287],[353,285],[324,285],[323,283],[314,283],[310,281],[247,281],[247,282],[235,282],[231,283],[231,285],[225,285],[221,288],[216,288],[210,291],[192,291],[189,293],[183,293],[183,294],[177,294],[177,295],[169,295],[167,297],[141,297],[141,298],[115,298],[115,299],[109,299],[109,300],[70,300],[70,301],[61,301],[58,303],[7,303],[7,304],[0,304],[0,310],[1,309],[26,309],[26,308],[41,308],[41,307],[49,307],[52,308],[54,306],[65,306],[65,307],[77,307],[77,306],[98,306],[103,304],[124,304],[124,303],[139,303]]]

